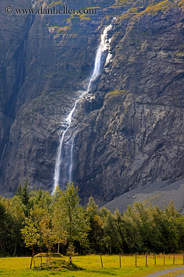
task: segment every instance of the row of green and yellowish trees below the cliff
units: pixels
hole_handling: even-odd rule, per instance
[[[0,255],[43,252],[176,253],[184,250],[184,217],[171,201],[162,211],[140,202],[112,214],[93,197],[83,207],[79,189],[68,183],[54,195],[30,190],[26,178],[13,198],[0,197]]]

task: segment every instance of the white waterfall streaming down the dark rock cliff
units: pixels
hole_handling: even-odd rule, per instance
[[[101,55],[102,53],[107,50],[108,48],[108,44],[106,44],[106,36],[107,36],[107,32],[111,29],[112,25],[108,25],[104,30],[103,33],[101,35],[101,41],[100,44],[98,46],[97,49],[97,53],[96,53],[96,57],[95,57],[95,65],[94,65],[94,70],[93,70],[93,74],[89,80],[88,83],[88,87],[87,90],[84,91],[80,96],[79,99],[75,102],[75,105],[73,107],[73,109],[70,111],[69,115],[66,118],[66,122],[68,124],[66,130],[62,133],[61,139],[60,139],[60,144],[59,144],[59,148],[58,148],[58,152],[57,152],[57,157],[56,157],[56,163],[55,163],[55,173],[54,173],[54,185],[53,185],[53,192],[56,189],[56,186],[59,184],[59,178],[60,178],[60,167],[61,167],[61,162],[62,162],[62,148],[63,148],[63,141],[64,141],[64,137],[65,134],[68,130],[68,128],[70,127],[70,124],[72,122],[72,116],[73,113],[76,109],[76,105],[79,102],[79,100],[86,95],[91,88],[91,84],[93,83],[93,81],[99,76],[100,74],[100,65],[101,65]],[[71,182],[72,179],[72,167],[73,167],[73,144],[74,144],[74,135],[72,136],[72,146],[71,146],[71,153],[70,153],[70,166],[69,166],[69,182]]]

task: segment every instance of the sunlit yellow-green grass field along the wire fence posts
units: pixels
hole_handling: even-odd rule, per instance
[[[59,259],[59,258],[52,258]],[[65,258],[68,261],[68,258]],[[121,257],[121,267],[119,267],[119,255],[102,255],[103,268],[99,255],[76,256],[72,258],[73,262],[85,270],[79,271],[56,271],[56,270],[32,270],[30,269],[31,257],[0,258],[0,276],[8,277],[25,277],[25,276],[42,276],[48,277],[53,275],[70,276],[70,277],[143,277],[158,270],[172,267],[183,266],[182,254],[175,254],[175,264],[173,264],[173,255],[165,255],[165,265],[163,265],[163,255],[156,255],[156,265],[154,264],[153,255],[147,256],[147,265],[145,266],[145,256],[137,258],[135,266],[135,256]],[[43,258],[43,262],[47,258]],[[40,258],[36,258],[36,265],[40,264]]]

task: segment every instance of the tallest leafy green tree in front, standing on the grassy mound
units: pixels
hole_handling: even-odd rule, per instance
[[[61,239],[69,243],[70,262],[72,262],[72,247],[74,241],[81,241],[87,236],[88,221],[85,219],[84,211],[80,206],[81,199],[78,195],[78,187],[67,183],[66,189],[61,191],[55,204],[54,224],[60,227]],[[56,217],[57,215],[57,217]]]

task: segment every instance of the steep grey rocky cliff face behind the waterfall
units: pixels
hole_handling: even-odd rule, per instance
[[[51,191],[65,118],[113,17],[102,74],[79,101],[66,137],[65,145],[74,135],[73,181],[84,201],[92,194],[100,202],[183,178],[183,3],[35,3],[64,5],[100,8],[96,15],[18,16],[6,15],[2,1],[1,192],[15,192],[25,176]],[[31,2],[12,6],[28,9]]]

